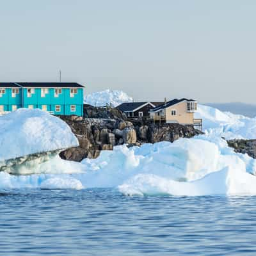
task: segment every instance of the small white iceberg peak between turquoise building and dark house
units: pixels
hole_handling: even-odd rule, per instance
[[[84,99],[84,103],[92,106],[106,106],[106,104],[111,104],[116,107],[123,102],[132,102],[132,98],[120,90],[109,89],[88,94]]]

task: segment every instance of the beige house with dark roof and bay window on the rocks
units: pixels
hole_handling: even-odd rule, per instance
[[[196,109],[196,100],[174,99],[150,109],[149,113],[154,122],[202,126],[202,120],[194,118]]]

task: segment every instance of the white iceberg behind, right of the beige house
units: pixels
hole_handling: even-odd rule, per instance
[[[203,119],[204,132],[231,139],[256,139],[256,117],[234,115],[198,104],[195,118]]]

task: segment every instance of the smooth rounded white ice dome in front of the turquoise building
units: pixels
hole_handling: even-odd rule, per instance
[[[77,145],[65,122],[40,109],[20,108],[0,116],[0,161]]]

